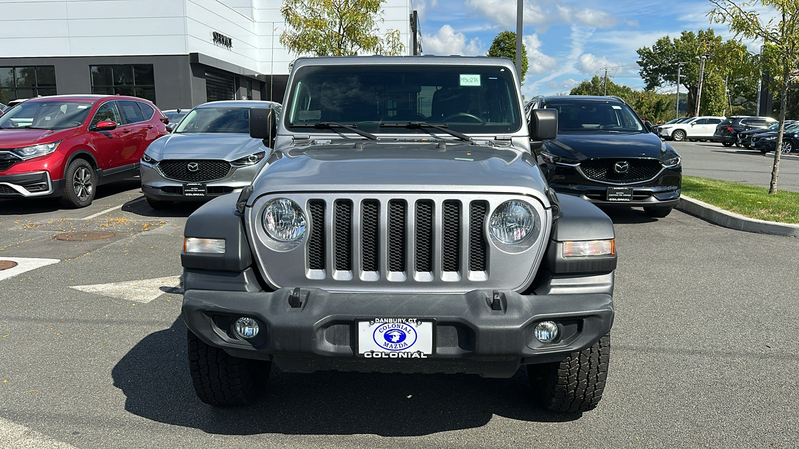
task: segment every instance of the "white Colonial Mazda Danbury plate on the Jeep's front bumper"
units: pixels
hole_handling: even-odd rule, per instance
[[[358,354],[367,358],[424,359],[433,353],[435,323],[416,318],[357,320]]]

